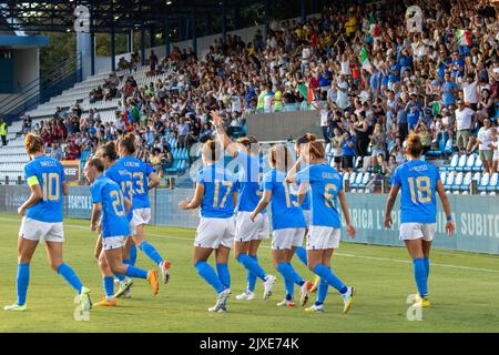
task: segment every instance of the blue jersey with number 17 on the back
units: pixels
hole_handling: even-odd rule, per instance
[[[235,179],[220,164],[203,168],[196,182],[204,185],[201,216],[227,219],[234,214]]]

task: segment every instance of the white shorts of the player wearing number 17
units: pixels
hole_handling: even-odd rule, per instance
[[[196,231],[194,246],[218,248],[222,244],[232,247],[234,242],[235,221],[230,219],[201,217]]]

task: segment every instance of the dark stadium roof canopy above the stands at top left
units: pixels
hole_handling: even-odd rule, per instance
[[[73,29],[74,9],[90,10],[92,32],[126,32],[164,26],[166,19],[222,12],[254,0],[0,0],[0,31],[52,31]]]

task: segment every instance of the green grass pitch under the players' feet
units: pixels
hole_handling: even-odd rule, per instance
[[[0,303],[16,300],[17,234],[20,219],[1,214]],[[95,235],[88,221],[65,220],[64,261],[92,290],[92,301],[101,298],[102,283],[93,258]],[[263,286],[256,286],[257,298],[235,300],[245,286],[245,271],[233,258],[230,262],[233,295],[226,314],[211,314],[213,288],[202,281],[191,263],[194,231],[149,226],[149,240],[172,262],[171,281],[151,295],[150,286],[135,281],[132,300],[120,300],[115,308],[94,307],[89,321],[75,321],[73,290],[48,265],[43,247],[38,248],[31,266],[28,311],[1,312],[0,332],[498,332],[499,263],[497,256],[434,251],[430,275],[432,307],[424,310],[421,322],[406,317],[406,297],[415,292],[413,268],[401,247],[343,243],[334,256],[333,267],[357,296],[347,315],[343,303],[329,292],[325,313],[307,314],[302,307],[281,308],[284,297],[278,277],[274,295],[262,298]],[[259,252],[264,268],[274,275],[269,241]],[[211,261],[213,263],[213,261]],[[296,258],[294,265],[306,278],[313,278]],[[139,251],[138,266],[153,267]],[[296,294],[298,290],[296,288]],[[312,296],[310,301],[315,298]]]

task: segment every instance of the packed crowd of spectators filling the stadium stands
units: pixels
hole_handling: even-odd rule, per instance
[[[317,110],[338,170],[389,176],[416,131],[427,152],[477,151],[483,171],[498,171],[499,11],[481,0],[410,4],[422,10],[420,30],[407,27],[401,1],[334,4],[304,24],[272,20],[266,38],[257,31],[247,43],[227,34],[203,58],[152,51],[144,87],[134,78],[135,52],[89,94],[91,103],[121,99],[113,121],[77,104],[35,126],[26,119],[24,130],[41,133],[50,154],[67,160],[135,132],[140,158],[164,168],[173,161],[172,138],[189,148],[212,136],[211,110],[238,136],[253,113],[307,109]]]

